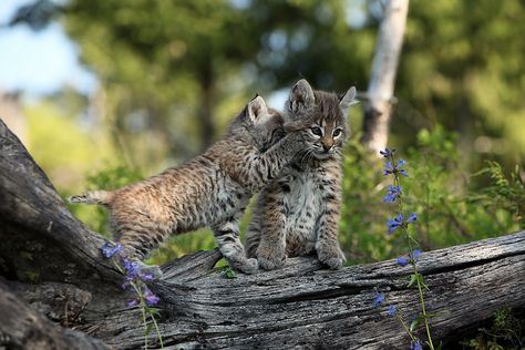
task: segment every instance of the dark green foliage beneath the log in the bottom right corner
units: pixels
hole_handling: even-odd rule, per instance
[[[525,349],[525,323],[509,308],[497,310],[490,329],[480,329],[476,338],[461,342],[464,349],[523,350]]]

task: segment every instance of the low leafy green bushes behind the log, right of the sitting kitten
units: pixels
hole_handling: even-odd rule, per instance
[[[516,168],[507,178],[500,165],[478,191],[462,168],[457,135],[437,125],[422,130],[416,145],[398,156],[408,162],[403,182],[404,206],[419,217],[416,239],[423,250],[512,233],[523,227],[524,187]],[[400,238],[387,235],[391,216],[382,204],[388,186],[379,157],[370,156],[352,141],[344,151],[343,204],[340,240],[353,262],[383,260],[403,254]],[[480,205],[486,204],[486,205]]]

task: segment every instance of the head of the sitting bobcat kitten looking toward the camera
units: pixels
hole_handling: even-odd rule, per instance
[[[349,136],[347,111],[354,104],[356,89],[339,97],[334,93],[312,91],[300,80],[286,104],[286,128],[299,131],[306,142],[305,154],[325,159],[340,152]]]

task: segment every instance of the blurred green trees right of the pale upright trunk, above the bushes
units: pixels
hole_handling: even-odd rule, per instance
[[[410,2],[394,133],[435,122],[460,131],[470,166],[486,153],[523,156],[524,19],[518,0]]]

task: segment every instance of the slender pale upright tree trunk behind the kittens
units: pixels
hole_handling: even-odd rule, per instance
[[[363,143],[378,153],[387,147],[398,61],[409,11],[409,0],[389,0],[378,33],[368,101],[364,106]]]

